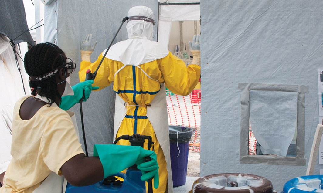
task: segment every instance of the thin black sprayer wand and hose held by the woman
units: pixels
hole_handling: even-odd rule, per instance
[[[127,21],[128,19],[129,19],[129,17],[124,17],[124,18],[122,19],[122,23],[121,23],[121,25],[120,25],[120,27],[119,27],[119,29],[118,29],[118,31],[117,31],[117,33],[116,33],[116,35],[113,37],[113,39],[112,39],[112,41],[111,41],[111,43],[110,43],[110,45],[109,45],[109,47],[108,47],[107,51],[105,52],[104,56],[102,57],[101,62],[99,63],[99,66],[97,67],[97,69],[96,69],[96,70],[95,70],[95,72],[93,73],[93,76],[92,76],[92,77],[86,76],[85,80],[89,80],[89,79],[94,80],[94,79],[95,79],[95,77],[97,76],[97,72],[98,72],[98,70],[99,70],[99,67],[101,66],[101,64],[102,64],[102,62],[103,62],[103,59],[104,59],[104,58],[105,58],[105,56],[107,55],[107,53],[108,53],[108,51],[109,51],[109,49],[110,49],[110,47],[111,47],[111,45],[112,45],[112,43],[113,43],[114,39],[115,39],[115,38],[116,38],[116,36],[118,35],[118,33],[119,33],[119,31],[120,31],[120,29],[121,29],[121,27],[122,27],[123,23],[124,23],[125,21]],[[89,75],[90,75],[90,74],[89,74]],[[88,157],[89,155],[88,155],[88,148],[87,148],[87,145],[86,145],[85,131],[84,131],[84,122],[83,122],[83,109],[82,109],[83,98],[85,98],[84,90],[83,90],[83,97],[80,99],[79,103],[80,103],[80,113],[81,113],[81,124],[82,124],[82,133],[83,133],[83,140],[84,140],[84,148],[85,148],[85,154],[86,154],[86,157]]]

